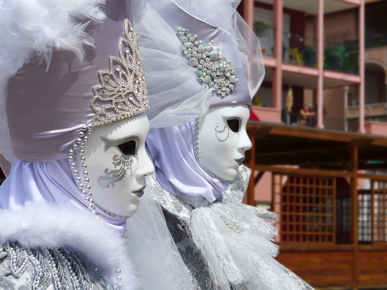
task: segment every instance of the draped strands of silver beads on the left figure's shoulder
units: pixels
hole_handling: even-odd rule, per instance
[[[51,283],[55,290],[92,290],[93,284],[103,289],[121,288],[117,283],[110,282],[108,276],[82,254],[77,255],[66,247],[25,249],[17,242],[6,242],[0,251],[7,252],[15,278],[23,275],[29,263],[33,265],[32,290],[46,290]]]

